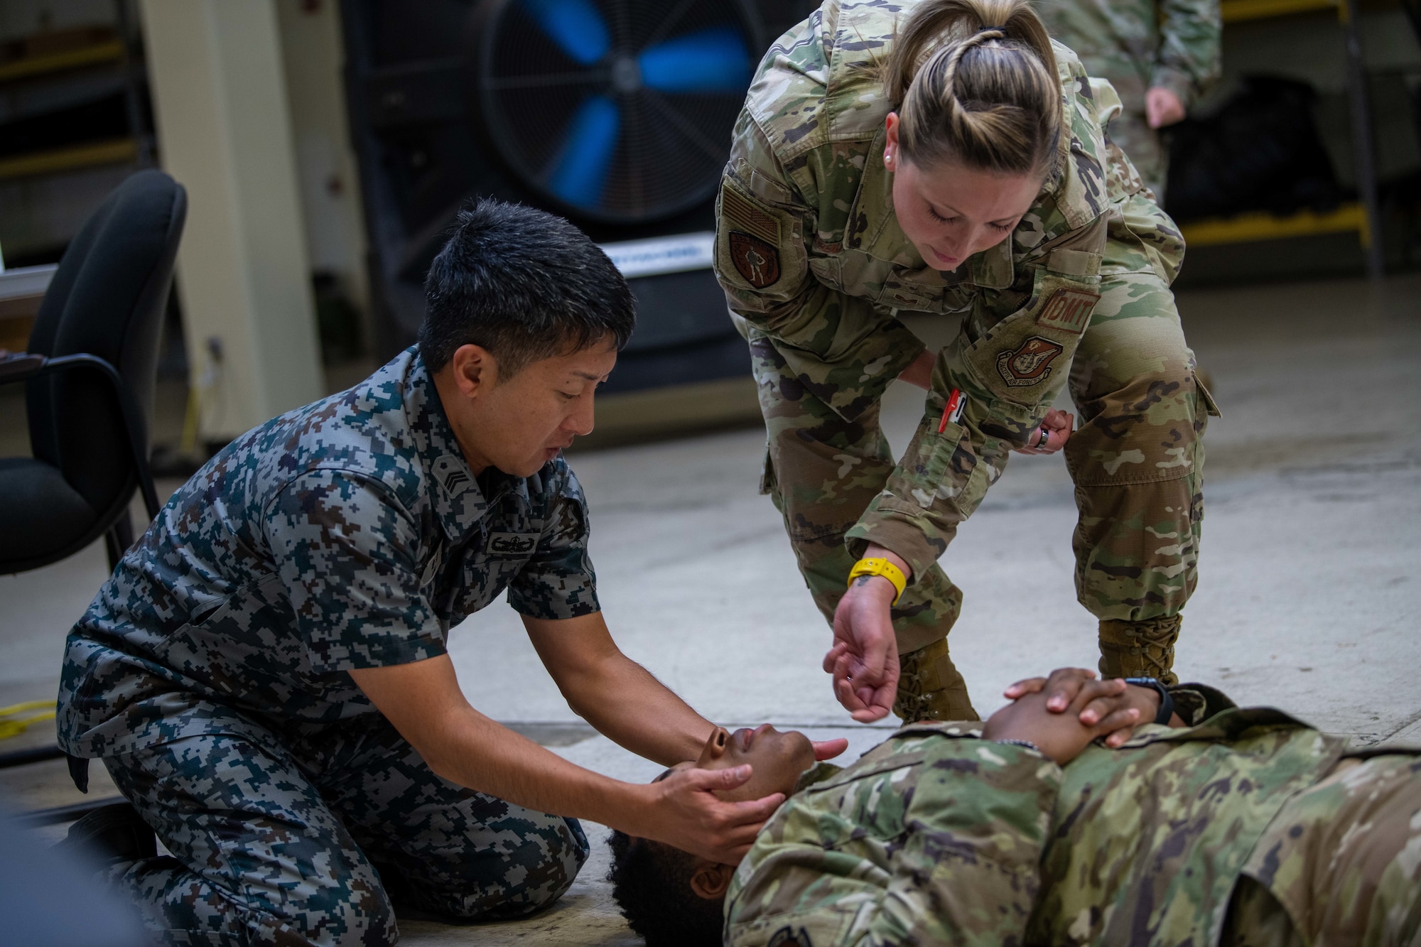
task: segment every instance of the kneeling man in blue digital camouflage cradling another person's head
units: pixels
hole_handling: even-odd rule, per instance
[[[163,943],[516,917],[576,877],[576,816],[733,862],[783,799],[712,795],[749,768],[607,779],[465,700],[448,631],[507,589],[601,732],[674,764],[713,729],[612,643],[561,458],[632,330],[621,274],[566,220],[485,202],[426,291],[418,347],[217,454],[70,633],[60,744],[77,779],[102,758],[138,813],[70,838],[108,842],[108,880]],[[149,857],[114,843],[135,828]]]

